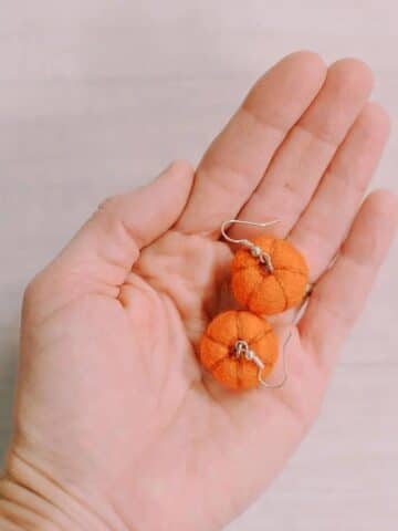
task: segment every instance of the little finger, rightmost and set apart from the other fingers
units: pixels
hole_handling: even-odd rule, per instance
[[[391,192],[370,194],[362,206],[333,268],[316,284],[300,322],[302,341],[329,369],[365,305],[398,222]]]

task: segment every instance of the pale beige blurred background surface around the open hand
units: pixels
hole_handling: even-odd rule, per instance
[[[104,196],[150,179],[175,157],[197,162],[249,85],[292,50],[368,61],[375,97],[396,125],[394,6],[0,0],[0,455],[29,278]],[[397,188],[397,144],[395,132],[377,185]],[[229,531],[397,529],[397,266],[396,246],[322,418]]]

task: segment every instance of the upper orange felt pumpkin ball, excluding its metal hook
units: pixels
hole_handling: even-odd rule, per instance
[[[274,271],[240,249],[231,264],[231,290],[237,301],[251,312],[274,314],[296,306],[303,300],[308,282],[304,257],[286,240],[269,236],[253,239],[271,257]]]

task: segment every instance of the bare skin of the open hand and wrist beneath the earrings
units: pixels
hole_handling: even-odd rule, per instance
[[[285,58],[196,173],[177,162],[106,200],[33,279],[2,529],[219,530],[268,488],[320,410],[397,226],[391,192],[363,200],[389,129],[371,85],[354,59]],[[315,282],[297,325],[274,320],[281,339],[292,331],[282,389],[223,391],[196,356],[232,306],[220,226],[235,217],[279,218],[269,231]]]

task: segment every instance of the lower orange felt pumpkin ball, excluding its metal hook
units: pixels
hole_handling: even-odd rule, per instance
[[[237,358],[239,340],[265,364],[262,376],[266,377],[277,358],[277,339],[270,323],[245,311],[230,310],[211,321],[200,341],[200,362],[223,387],[251,389],[259,385],[259,368],[244,356]]]

